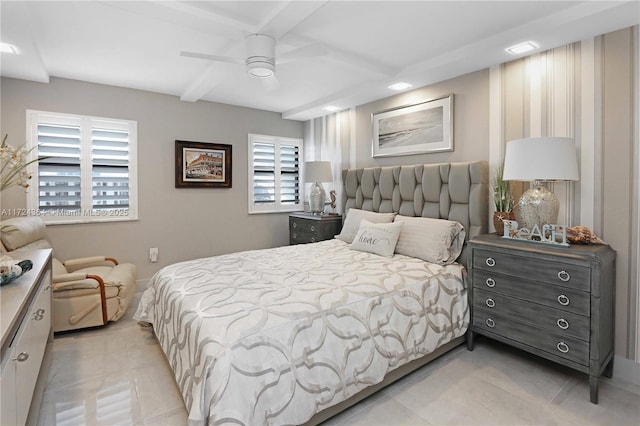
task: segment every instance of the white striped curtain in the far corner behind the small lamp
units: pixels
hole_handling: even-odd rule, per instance
[[[342,170],[355,167],[355,108],[305,123],[304,161],[331,161],[333,182],[325,183],[327,198],[336,191],[336,212],[343,214]],[[305,184],[305,194],[311,184]],[[305,200],[308,205],[308,200]],[[330,210],[327,210],[330,211]]]

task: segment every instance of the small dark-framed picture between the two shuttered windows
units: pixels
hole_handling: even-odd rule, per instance
[[[177,140],[176,188],[231,188],[231,145]]]

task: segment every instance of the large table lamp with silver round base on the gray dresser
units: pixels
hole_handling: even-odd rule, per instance
[[[529,230],[555,224],[560,203],[542,183],[578,180],[578,159],[572,138],[517,139],[507,144],[504,180],[534,181],[518,201],[516,221]]]

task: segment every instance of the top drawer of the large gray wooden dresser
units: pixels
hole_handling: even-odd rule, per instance
[[[533,259],[491,250],[473,250],[473,269],[515,277],[535,277],[536,281],[589,291],[591,269],[562,262]]]

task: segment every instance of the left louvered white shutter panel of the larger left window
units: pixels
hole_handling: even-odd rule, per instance
[[[80,126],[38,124],[38,209],[81,209]]]

